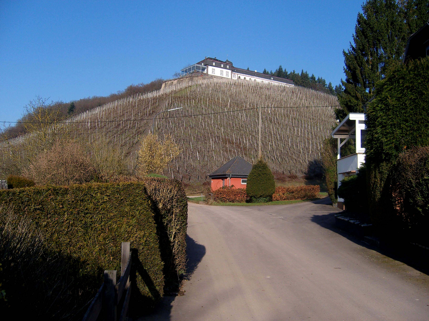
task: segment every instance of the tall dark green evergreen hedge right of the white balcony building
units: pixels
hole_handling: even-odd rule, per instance
[[[429,144],[429,57],[393,65],[376,85],[367,110],[369,208],[376,227],[389,229],[390,171],[399,154]]]

